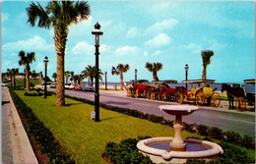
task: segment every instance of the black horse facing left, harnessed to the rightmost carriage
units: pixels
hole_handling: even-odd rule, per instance
[[[231,87],[226,83],[223,83],[222,85],[222,92],[224,92],[224,90],[226,90],[226,94],[227,94],[227,98],[228,98],[228,102],[229,102],[229,109],[234,109],[233,107],[233,97],[243,97],[245,98],[245,94],[243,91],[243,88],[241,87]],[[232,106],[231,106],[232,103]]]

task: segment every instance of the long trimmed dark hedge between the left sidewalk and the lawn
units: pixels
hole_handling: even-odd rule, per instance
[[[25,125],[27,133],[32,135],[36,143],[40,145],[39,149],[41,153],[46,154],[49,163],[75,163],[64,147],[61,146],[56,138],[52,136],[51,132],[33,114],[32,109],[24,103],[13,89],[10,89],[10,93],[20,117],[27,122]]]

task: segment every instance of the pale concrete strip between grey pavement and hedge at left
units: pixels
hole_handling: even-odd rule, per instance
[[[14,163],[38,164],[9,89],[7,89],[7,95],[10,100],[10,126]]]

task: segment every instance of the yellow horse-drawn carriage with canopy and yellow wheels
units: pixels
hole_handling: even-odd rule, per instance
[[[217,88],[207,86],[200,86],[200,84],[207,84],[215,82],[214,80],[193,80],[193,81],[183,81],[187,83],[193,83],[199,85],[198,87],[191,87],[190,90],[183,89],[179,91],[178,102],[184,103],[187,101],[194,101],[197,106],[201,107],[204,104],[209,104],[213,107],[218,107],[221,103],[221,96],[216,92]]]

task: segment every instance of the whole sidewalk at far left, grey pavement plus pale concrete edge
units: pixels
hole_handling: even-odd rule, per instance
[[[2,86],[2,163],[38,163],[7,86]]]

